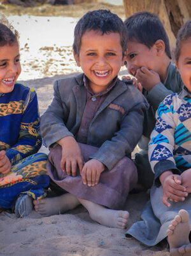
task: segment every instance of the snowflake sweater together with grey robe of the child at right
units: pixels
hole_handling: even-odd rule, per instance
[[[191,194],[185,201],[171,202],[171,207],[162,203],[163,190],[159,176],[171,169],[181,174],[191,168],[191,92],[183,87],[180,94],[167,96],[156,113],[157,123],[151,134],[149,160],[155,173],[150,201],[143,209],[142,220],[127,231],[148,246],[157,245],[167,236],[167,228],[178,211],[188,211],[191,222]]]

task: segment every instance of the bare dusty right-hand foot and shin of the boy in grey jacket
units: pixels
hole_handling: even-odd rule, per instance
[[[79,199],[79,198],[78,198]],[[95,222],[108,227],[125,229],[129,218],[128,211],[110,210],[99,204],[92,203],[85,199],[79,199],[80,203],[88,210],[90,217]]]

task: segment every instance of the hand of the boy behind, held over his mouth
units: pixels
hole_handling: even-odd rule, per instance
[[[157,83],[160,82],[159,74],[153,70],[141,67],[136,72],[136,78],[145,90],[150,91]]]

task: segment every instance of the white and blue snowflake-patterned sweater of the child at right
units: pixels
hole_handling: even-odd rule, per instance
[[[180,174],[191,167],[191,93],[185,86],[160,103],[156,119],[148,157],[159,184],[164,171]]]

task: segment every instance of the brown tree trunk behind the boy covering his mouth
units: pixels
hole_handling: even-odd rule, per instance
[[[124,0],[125,16],[138,11],[150,11],[159,16],[169,36],[171,49],[176,35],[186,20],[191,18],[191,0]]]

